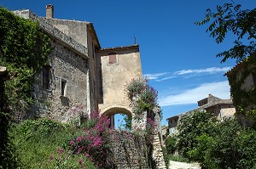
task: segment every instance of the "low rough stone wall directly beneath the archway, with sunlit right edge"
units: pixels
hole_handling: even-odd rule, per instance
[[[115,131],[110,136],[113,159],[116,168],[122,169],[166,169],[158,135],[151,140],[127,131]],[[153,143],[151,143],[153,141]]]

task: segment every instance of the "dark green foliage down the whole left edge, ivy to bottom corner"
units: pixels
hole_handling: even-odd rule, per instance
[[[33,77],[51,51],[49,37],[38,23],[22,19],[0,7],[0,65],[7,67],[9,80],[0,79],[0,168],[16,168],[9,121],[26,113],[32,103]]]

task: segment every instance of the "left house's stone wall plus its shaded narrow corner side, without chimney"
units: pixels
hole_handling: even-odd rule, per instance
[[[89,24],[89,32],[86,26],[88,22],[46,19],[44,17],[38,17],[27,9],[17,10],[14,11],[14,13],[26,19],[38,21],[40,27],[51,38],[53,47],[55,47],[54,54],[52,54],[55,74],[52,74],[53,79],[51,80],[55,83],[52,87],[56,88],[54,88],[54,91],[52,89],[42,90],[40,84],[37,84],[42,83],[40,82],[42,81],[42,79],[40,79],[42,75],[38,75],[36,78],[38,82],[34,84],[34,97],[39,99],[39,111],[44,113],[46,110],[53,110],[53,113],[57,112],[56,115],[63,115],[67,113],[68,108],[73,106],[73,104],[83,104],[85,105],[84,110],[89,112],[90,110],[97,110],[95,51],[96,47],[98,48],[100,45],[98,41],[96,41],[96,34],[91,34],[91,32],[95,33],[95,31],[91,31],[93,26]],[[65,25],[66,28],[68,28],[66,30],[64,29]],[[75,69],[79,69],[83,73],[73,71]],[[58,72],[56,73],[56,71]],[[60,102],[60,93],[58,93],[60,88],[58,88],[58,86],[61,85],[61,77],[63,76],[66,78],[68,85],[72,86],[70,86],[70,89],[67,88],[67,93],[70,97],[61,97]],[[84,76],[86,77],[84,78]],[[86,90],[86,92],[84,90]],[[44,101],[48,101],[48,99],[46,99],[47,97],[49,97],[49,101],[54,103],[51,109],[47,109],[47,107],[42,104]],[[56,107],[54,108],[53,106]]]

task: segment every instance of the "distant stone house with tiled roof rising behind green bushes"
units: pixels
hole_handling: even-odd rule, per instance
[[[195,110],[189,110],[181,115],[174,115],[167,118],[168,128],[170,135],[177,133],[177,125],[182,115],[193,113],[198,110],[211,111],[219,121],[223,121],[224,118],[232,117],[236,113],[236,108],[231,99],[219,99],[212,94],[209,94],[207,98],[197,101],[198,108]]]

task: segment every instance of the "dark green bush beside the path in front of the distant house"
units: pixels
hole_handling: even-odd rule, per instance
[[[184,157],[189,157],[189,150],[195,149],[198,136],[202,133],[212,133],[217,121],[211,112],[195,111],[183,115],[177,126],[177,150]]]

